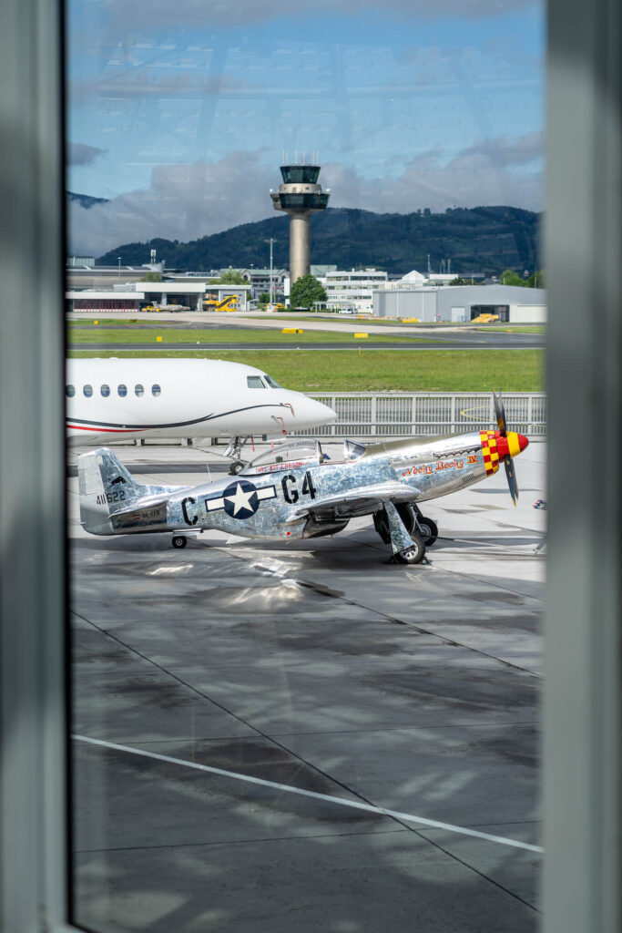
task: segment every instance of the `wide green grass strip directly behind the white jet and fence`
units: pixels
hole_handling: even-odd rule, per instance
[[[109,352],[71,351],[70,357]],[[226,359],[270,373],[300,392],[541,392],[542,350],[116,351],[123,358]]]

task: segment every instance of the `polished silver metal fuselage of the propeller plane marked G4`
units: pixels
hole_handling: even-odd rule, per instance
[[[218,529],[294,539],[327,534],[333,526],[339,530],[355,516],[378,511],[387,500],[423,502],[487,475],[479,432],[371,444],[358,459],[321,461],[319,455],[250,465],[237,477],[195,487],[141,486],[133,494],[124,487],[126,495],[108,506],[102,522],[83,518],[83,525],[100,535]],[[115,470],[105,464],[102,479],[108,489]]]

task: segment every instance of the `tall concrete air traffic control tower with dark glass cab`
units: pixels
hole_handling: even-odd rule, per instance
[[[270,191],[277,211],[289,214],[289,275],[294,285],[311,270],[311,214],[325,211],[328,192],[317,184],[319,165],[282,165],[283,185]]]

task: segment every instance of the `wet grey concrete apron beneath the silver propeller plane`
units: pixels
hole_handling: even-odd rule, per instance
[[[184,485],[221,451],[116,448]],[[545,458],[518,459],[518,508],[503,470],[426,504],[414,567],[368,520],[290,545],[88,536],[70,469],[78,924],[535,930],[539,856],[510,843],[539,843]]]

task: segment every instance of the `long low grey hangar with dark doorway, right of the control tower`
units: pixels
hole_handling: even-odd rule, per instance
[[[498,314],[507,324],[546,323],[546,289],[519,285],[434,285],[373,292],[374,317],[416,317],[420,321],[472,321]]]

